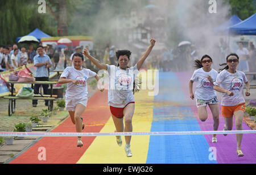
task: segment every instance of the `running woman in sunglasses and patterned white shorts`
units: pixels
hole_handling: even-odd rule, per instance
[[[217,131],[220,120],[218,111],[218,99],[216,92],[213,89],[213,83],[217,78],[218,72],[210,68],[211,65],[212,58],[210,58],[208,55],[203,56],[201,60],[195,60],[195,67],[197,70],[194,71],[192,78],[189,81],[189,92],[190,97],[193,100],[195,98],[193,94],[193,83],[197,82],[196,106],[199,118],[202,122],[207,120],[207,105],[209,105],[213,116],[213,130]],[[216,134],[213,134],[212,142],[217,142]]]

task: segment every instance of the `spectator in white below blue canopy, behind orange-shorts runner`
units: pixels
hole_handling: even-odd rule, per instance
[[[247,59],[249,58],[249,51],[246,48],[243,48],[243,43],[239,42],[239,49],[237,50],[237,55],[240,57],[238,70],[243,72],[249,72],[249,65]]]

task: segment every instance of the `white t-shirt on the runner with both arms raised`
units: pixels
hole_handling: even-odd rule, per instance
[[[107,65],[109,73],[108,105],[115,108],[124,108],[134,101],[133,83],[139,74],[137,65],[122,70],[114,65]]]

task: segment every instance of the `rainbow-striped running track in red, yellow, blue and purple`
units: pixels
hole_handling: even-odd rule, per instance
[[[188,72],[160,72],[159,93],[148,96],[144,90],[135,95],[135,112],[133,117],[134,132],[150,131],[210,131],[212,115],[206,122],[197,117],[195,101],[189,99]],[[110,117],[107,92],[97,92],[88,102],[82,117],[88,133],[112,133],[114,123]],[[220,116],[219,130],[224,120]],[[235,125],[234,125],[235,126]],[[233,128],[235,130],[235,128]],[[250,128],[243,123],[243,130]],[[54,133],[75,133],[71,119],[66,119],[57,126]],[[217,135],[218,142],[212,143],[211,135],[168,135],[168,136],[132,136],[131,151],[133,157],[126,157],[124,144],[119,147],[115,136],[92,136],[82,138],[84,147],[77,148],[76,137],[44,137],[31,146],[12,163],[43,164],[171,164],[171,163],[256,163],[256,134],[244,134],[242,151],[244,157],[236,155],[236,136]],[[122,137],[123,143],[124,136]],[[46,160],[39,160],[39,147],[46,148]],[[216,159],[210,158],[212,148]]]

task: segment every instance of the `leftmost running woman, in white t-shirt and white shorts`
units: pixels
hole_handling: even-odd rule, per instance
[[[89,70],[81,68],[84,62],[84,56],[81,53],[73,55],[73,67],[67,67],[60,76],[59,83],[67,83],[66,91],[66,109],[69,112],[72,122],[76,125],[77,133],[82,133],[84,124],[82,123],[81,115],[84,113],[87,105],[87,85],[88,78],[95,77],[97,81],[100,79],[98,75]],[[101,92],[104,89],[101,88]],[[77,147],[82,147],[82,138],[78,137]]]

